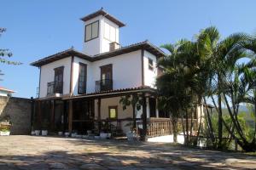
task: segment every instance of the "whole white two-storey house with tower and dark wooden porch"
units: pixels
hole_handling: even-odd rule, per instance
[[[82,52],[70,48],[31,64],[40,69],[34,122],[49,122],[50,132],[86,133],[108,124],[118,135],[134,122],[143,137],[171,133],[170,120],[156,107],[154,87],[161,73],[157,59],[166,54],[148,41],[122,47],[119,31],[125,24],[103,9],[81,20]],[[139,96],[141,107],[124,110],[119,101],[127,95]]]

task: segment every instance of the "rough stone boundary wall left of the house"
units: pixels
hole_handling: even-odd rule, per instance
[[[9,116],[11,134],[29,134],[31,127],[31,100],[0,96],[0,118]]]

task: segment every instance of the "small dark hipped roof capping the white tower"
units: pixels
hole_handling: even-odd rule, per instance
[[[95,18],[96,16],[99,16],[99,15],[103,15],[104,17],[106,17],[108,20],[111,20],[113,23],[115,23],[119,27],[125,26],[124,23],[117,20],[111,14],[108,14],[105,10],[103,10],[103,8],[101,8],[100,10],[98,10],[98,11],[92,13],[92,14],[88,14],[88,15],[84,16],[83,18],[81,18],[81,20],[83,20],[85,22],[86,20],[93,19],[93,18]]]

